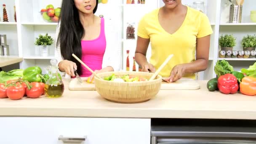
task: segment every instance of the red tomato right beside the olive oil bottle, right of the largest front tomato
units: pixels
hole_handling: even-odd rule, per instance
[[[32,88],[30,90],[27,88],[26,93],[30,98],[38,98],[43,94],[43,87],[40,83],[32,82],[30,83]]]

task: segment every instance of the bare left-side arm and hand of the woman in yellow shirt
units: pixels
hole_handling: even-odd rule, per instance
[[[146,54],[147,54],[147,48],[149,46],[149,39],[142,38],[138,36],[137,40],[137,46],[135,51],[135,61],[139,64],[139,67],[141,67],[141,71],[148,72],[148,69],[150,69],[151,72],[155,72],[155,68],[152,64],[149,64],[147,62]]]

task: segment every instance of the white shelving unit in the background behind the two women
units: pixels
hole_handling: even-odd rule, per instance
[[[183,4],[192,6],[192,3],[198,0],[182,0]],[[202,0],[201,0],[202,1]],[[242,50],[241,40],[245,35],[256,34],[256,23],[250,20],[250,11],[256,10],[256,0],[245,0],[243,4],[242,23],[227,23],[229,16],[229,0],[203,0],[207,6],[206,13],[213,29],[211,35],[211,45],[209,53],[208,69],[200,72],[198,79],[208,80],[216,77],[214,66],[219,58],[219,36],[222,34],[233,34],[236,37],[237,45],[235,50]],[[2,2],[2,1],[1,1]],[[135,1],[136,2],[136,1]],[[54,58],[54,45],[50,48],[50,56],[41,57],[35,55],[35,38],[39,34],[48,33],[54,39],[57,23],[47,23],[43,21],[40,10],[48,4],[54,7],[61,6],[61,0],[3,0],[6,4],[8,19],[10,22],[0,22],[0,34],[7,35],[7,42],[10,45],[11,56],[23,57],[24,61],[20,63],[20,68],[26,68],[33,65],[46,67],[50,65],[50,59]],[[14,21],[13,6],[16,5],[17,22]],[[130,50],[130,69],[132,70],[133,59],[136,49],[135,40],[126,39],[127,23],[134,23],[135,36],[139,20],[144,14],[161,7],[162,0],[146,0],[145,4],[126,4],[126,0],[108,0],[107,4],[99,4],[96,15],[104,15],[104,18],[115,21],[115,27],[120,29],[120,38],[117,43],[120,44],[120,51],[123,53],[123,69],[126,69],[126,50]],[[0,6],[2,9],[2,5]],[[0,11],[1,20],[3,12]],[[55,43],[55,42],[54,42]],[[147,58],[151,55],[149,50]],[[255,59],[226,59],[236,69],[247,68],[256,61]],[[138,66],[136,65],[137,69]]]

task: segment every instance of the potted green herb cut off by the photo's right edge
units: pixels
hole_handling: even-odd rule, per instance
[[[256,36],[255,35],[247,35],[243,37],[242,40],[243,50],[244,51],[253,51],[256,48]]]

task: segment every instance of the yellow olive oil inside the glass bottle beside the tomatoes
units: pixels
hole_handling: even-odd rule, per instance
[[[60,83],[60,84],[51,84],[51,85],[47,85],[45,84],[45,94],[47,97],[49,98],[58,98],[60,96],[62,96],[64,92],[64,84]]]

